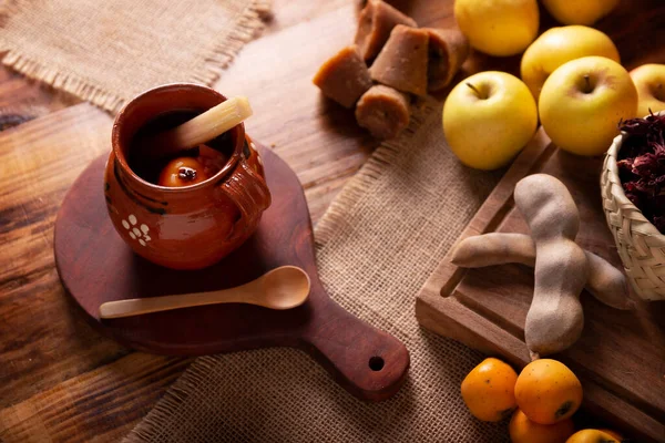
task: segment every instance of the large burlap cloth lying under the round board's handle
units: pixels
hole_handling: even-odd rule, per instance
[[[203,357],[126,442],[508,442],[505,423],[477,421],[460,398],[482,354],[415,316],[416,293],[499,176],[453,157],[440,105],[413,120],[348,183],[315,235],[330,296],[409,349],[399,393],[361,402],[293,349]]]

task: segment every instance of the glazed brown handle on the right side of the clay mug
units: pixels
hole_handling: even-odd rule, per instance
[[[270,192],[260,175],[254,172],[247,161],[242,158],[235,171],[222,184],[224,193],[241,210],[229,240],[242,237],[247,229],[256,227],[258,218],[270,206]]]

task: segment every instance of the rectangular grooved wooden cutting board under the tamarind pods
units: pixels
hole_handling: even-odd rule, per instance
[[[580,208],[576,241],[621,268],[602,208],[601,165],[600,157],[556,148],[541,128],[460,239],[491,231],[528,234],[512,193],[524,176],[545,173],[567,186]],[[523,327],[532,295],[532,269],[521,265],[461,269],[450,262],[449,251],[420,290],[416,315],[424,328],[522,368],[530,361]],[[585,320],[581,339],[552,357],[581,379],[590,412],[640,441],[665,442],[665,302],[640,302],[634,311],[620,311],[587,292],[581,300]]]

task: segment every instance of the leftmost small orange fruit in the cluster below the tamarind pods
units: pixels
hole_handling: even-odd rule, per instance
[[[479,420],[498,422],[515,409],[516,372],[501,360],[489,358],[462,381],[462,399]]]

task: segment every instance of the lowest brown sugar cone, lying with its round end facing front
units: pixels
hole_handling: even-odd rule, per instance
[[[372,86],[358,101],[356,121],[377,138],[395,138],[409,125],[410,97],[390,86]]]

